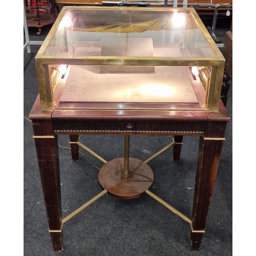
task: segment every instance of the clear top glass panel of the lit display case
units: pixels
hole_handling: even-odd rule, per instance
[[[45,55],[216,57],[190,11],[172,8],[68,8]]]

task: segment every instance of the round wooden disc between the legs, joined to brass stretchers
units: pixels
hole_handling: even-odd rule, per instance
[[[99,183],[108,195],[119,199],[134,199],[151,187],[154,174],[150,166],[136,158],[129,158],[128,177],[123,176],[124,158],[105,163],[99,171]]]

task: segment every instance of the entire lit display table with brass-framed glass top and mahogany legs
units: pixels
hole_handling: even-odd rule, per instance
[[[220,99],[225,59],[194,8],[63,7],[35,63],[39,97],[29,119],[53,250],[63,249],[63,224],[105,194],[154,198],[189,223],[190,248],[199,250],[230,118]],[[65,218],[62,135],[69,135],[73,161],[82,147],[103,163],[102,191]],[[82,144],[81,135],[123,135],[123,157],[105,160]],[[130,157],[131,135],[173,141],[142,161]],[[150,190],[148,163],[170,147],[178,162],[183,136],[200,137],[191,219]],[[108,141],[107,158],[109,151]]]

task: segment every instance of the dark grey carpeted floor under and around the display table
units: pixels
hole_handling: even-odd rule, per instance
[[[224,41],[229,21],[218,21],[216,35]],[[219,24],[220,23],[220,24]],[[208,26],[208,25],[207,25]],[[50,26],[30,28],[31,40],[44,40]],[[24,116],[28,117],[38,94],[34,57],[40,46],[24,51]],[[104,195],[63,226],[61,255],[156,256],[232,255],[232,81],[230,81],[226,141],[209,208],[201,249],[189,250],[189,225],[154,199],[117,200]],[[24,118],[24,255],[56,255],[50,233],[37,165],[32,124]],[[123,136],[81,136],[80,141],[111,160],[123,156]],[[130,156],[146,160],[172,142],[172,136],[131,136]],[[78,162],[71,159],[69,138],[59,136],[62,217],[97,195],[98,168],[102,163],[83,151]],[[198,151],[197,137],[184,137],[181,160],[171,160],[172,149],[149,163],[154,171],[152,192],[190,218]],[[89,162],[90,161],[90,162]],[[96,166],[96,167],[95,167]],[[97,168],[98,167],[98,168]],[[60,254],[59,254],[60,255]]]

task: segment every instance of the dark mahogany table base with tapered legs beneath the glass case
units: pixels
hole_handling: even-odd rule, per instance
[[[141,190],[132,191],[120,195],[111,187],[111,180],[115,183],[114,176],[117,171],[119,181],[121,177],[121,164],[123,159],[114,159],[105,162],[99,172],[99,181],[103,191],[84,206],[77,209],[79,212],[99,197],[106,193],[115,197],[137,197],[146,193],[170,210],[174,211],[191,226],[190,249],[199,250],[203,238],[207,213],[210,205],[212,190],[214,188],[217,170],[220,161],[223,141],[225,140],[226,124],[230,120],[226,109],[220,100],[219,112],[205,111],[154,111],[154,110],[51,110],[41,111],[40,100],[37,97],[31,110],[29,118],[33,124],[33,138],[37,152],[37,160],[41,177],[42,190],[44,193],[45,206],[54,251],[61,251],[62,227],[69,219],[62,219],[61,216],[61,195],[60,195],[60,172],[58,157],[58,136],[69,135],[71,142],[72,159],[79,158],[79,135],[173,135],[173,160],[179,161],[183,136],[200,136],[198,161],[196,170],[196,183],[193,211],[191,219],[182,215],[178,210],[163,202],[153,193],[150,186],[154,175],[151,168],[138,159],[130,160],[129,172],[138,172],[142,177],[145,175],[146,186]],[[113,165],[112,171],[109,165]],[[117,166],[119,166],[117,168]],[[138,167],[139,166],[139,167]],[[116,168],[116,169],[115,169]],[[141,172],[140,168],[145,170]],[[135,172],[135,173],[136,173]],[[130,175],[131,175],[130,173]],[[133,173],[133,175],[135,174]],[[113,177],[113,180],[112,178]],[[133,176],[135,181],[135,175]],[[138,178],[136,177],[136,178]],[[130,176],[131,178],[131,176]],[[129,178],[128,178],[129,179]],[[117,180],[118,181],[118,180]],[[75,212],[75,213],[76,213]],[[70,217],[72,218],[72,216]],[[171,218],[171,217],[170,217]],[[172,231],[173,232],[173,231]]]

